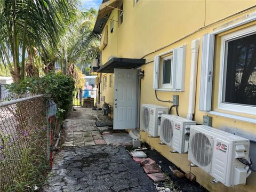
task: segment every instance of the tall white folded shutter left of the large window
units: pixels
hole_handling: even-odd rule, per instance
[[[202,44],[201,82],[199,110],[210,111],[212,102],[212,75],[214,56],[214,35],[205,34]]]

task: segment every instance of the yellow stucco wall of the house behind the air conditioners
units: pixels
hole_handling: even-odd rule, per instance
[[[205,4],[206,3],[206,4]],[[186,70],[185,70],[185,91],[170,92],[158,91],[158,97],[163,100],[172,99],[173,94],[178,94],[180,99],[179,114],[182,117],[187,117],[188,114],[188,99],[189,99],[189,81],[190,81],[190,62],[191,62],[191,41],[200,39],[198,68],[197,68],[197,86],[196,86],[196,103],[195,103],[195,121],[202,124],[203,115],[207,115],[203,111],[198,110],[199,106],[199,83],[201,72],[201,51],[202,37],[206,33],[211,33],[214,28],[225,25],[228,22],[236,22],[239,18],[246,14],[255,12],[256,9],[247,10],[239,13],[234,17],[219,21],[232,14],[238,13],[256,4],[256,1],[143,1],[139,0],[134,6],[134,1],[124,1],[124,19],[121,26],[119,22],[114,22],[113,34],[108,33],[108,45],[102,50],[102,63],[106,63],[110,55],[115,55],[121,58],[142,58],[146,54],[154,52],[159,48],[178,41],[194,31],[196,33],[189,35],[182,40],[166,46],[164,49],[151,53],[144,57],[147,64],[142,66],[145,70],[145,77],[141,80],[141,103],[153,103],[170,107],[168,103],[159,102],[155,98],[153,90],[153,71],[154,71],[154,56],[170,51],[175,47],[186,45]],[[206,9],[205,9],[206,7]],[[118,11],[114,10],[111,19],[118,21]],[[213,22],[209,27],[204,28]],[[110,20],[107,26],[110,26]],[[256,22],[249,25],[256,25]],[[245,26],[239,27],[243,28]],[[234,29],[237,30],[237,29]],[[230,30],[231,31],[231,30]],[[230,33],[228,31],[227,33]],[[221,36],[223,34],[220,34]],[[218,38],[216,47],[218,49]],[[219,90],[219,57],[218,52],[214,55],[214,76],[213,76],[213,98],[212,109],[217,110],[218,90]],[[102,74],[104,76],[106,74]],[[109,74],[108,81],[109,81]],[[109,85],[109,82],[108,82]],[[108,86],[107,86],[108,87]],[[102,90],[102,88],[101,88]],[[113,104],[113,89],[103,91],[106,102]],[[149,95],[152,95],[149,97]],[[250,118],[255,118],[255,115],[231,113],[225,111],[226,114],[240,115]],[[174,114],[174,111],[172,111]],[[256,133],[256,125],[245,123],[235,119],[209,115],[213,117],[212,126],[216,128],[234,127],[247,132]],[[159,153],[168,158],[183,171],[188,171],[187,154],[171,154],[170,147],[159,145],[158,138],[149,138],[145,132],[140,134],[141,140],[149,143]],[[221,183],[213,185],[210,183],[212,177],[199,168],[193,167],[192,173],[196,175],[196,180],[210,191],[256,191],[256,174],[252,173],[247,178],[245,186],[225,187]]]

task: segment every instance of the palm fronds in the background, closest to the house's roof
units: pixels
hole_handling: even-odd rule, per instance
[[[71,23],[69,30],[61,41],[62,71],[77,63],[89,63],[98,54],[99,36],[93,33],[97,11],[91,8],[78,12],[76,22]]]

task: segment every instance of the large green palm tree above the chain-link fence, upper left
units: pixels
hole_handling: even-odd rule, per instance
[[[33,57],[33,47],[57,49],[74,10],[72,0],[0,1],[0,53],[14,82],[25,77],[25,55]]]

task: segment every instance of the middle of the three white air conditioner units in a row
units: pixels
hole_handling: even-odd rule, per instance
[[[162,115],[160,140],[178,153],[187,153],[190,126],[195,124],[196,122],[183,117]]]

